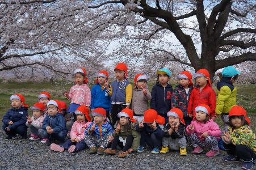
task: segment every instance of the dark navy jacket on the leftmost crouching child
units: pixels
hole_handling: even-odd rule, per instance
[[[3,124],[7,125],[10,130],[18,128],[20,125],[26,126],[28,116],[28,108],[21,107],[19,109],[11,108],[7,111],[5,116],[3,116]],[[12,121],[14,124],[9,125],[9,122]]]

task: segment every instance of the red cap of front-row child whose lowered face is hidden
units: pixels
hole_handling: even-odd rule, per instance
[[[144,113],[144,122],[153,123],[154,121],[156,121],[160,125],[165,124],[165,118],[163,118],[162,116],[159,116],[157,114],[157,111],[155,111],[154,109],[146,110]]]

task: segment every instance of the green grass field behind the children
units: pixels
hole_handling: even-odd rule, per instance
[[[130,82],[133,80],[131,79]],[[149,82],[149,90],[151,91],[155,82]],[[2,120],[3,114],[10,108],[10,96],[15,93],[23,94],[26,98],[26,104],[33,105],[38,101],[37,95],[41,91],[48,91],[52,95],[52,99],[62,100],[69,104],[69,101],[62,95],[65,90],[69,90],[73,86],[72,82],[54,82],[54,83],[1,83],[0,84],[0,118]],[[89,84],[90,87],[93,84]],[[172,84],[175,87],[175,84]],[[237,104],[244,107],[247,111],[248,117],[251,120],[251,128],[256,132],[256,84],[241,85],[236,84],[237,87]],[[31,113],[29,113],[31,114]],[[216,122],[222,126],[220,117]]]

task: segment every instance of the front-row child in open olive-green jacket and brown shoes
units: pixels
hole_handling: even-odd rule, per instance
[[[125,108],[117,114],[119,121],[115,124],[114,140],[111,148],[107,148],[104,152],[115,155],[116,147],[119,145],[122,150],[118,154],[118,158],[125,158],[132,151],[136,151],[140,145],[140,133],[135,129],[136,120],[133,117],[131,109]]]

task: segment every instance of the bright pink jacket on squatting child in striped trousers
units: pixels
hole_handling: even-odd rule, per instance
[[[213,121],[209,120],[205,124],[200,123],[196,120],[196,118],[193,118],[193,121],[191,122],[191,125],[194,125],[194,130],[190,130],[189,126],[186,128],[186,132],[188,135],[191,135],[193,133],[196,133],[196,135],[199,137],[201,141],[204,141],[204,138],[201,137],[201,135],[207,131],[209,136],[216,137],[219,139],[221,137],[221,131],[219,126]]]

